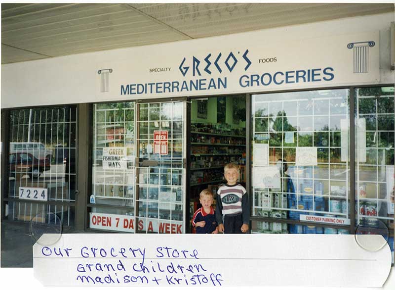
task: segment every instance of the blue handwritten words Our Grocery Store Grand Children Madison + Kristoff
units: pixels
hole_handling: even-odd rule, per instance
[[[168,246],[155,249],[41,247],[41,254],[45,257],[68,258],[75,252],[81,258],[75,267],[76,281],[79,285],[221,286],[223,282],[220,273],[210,272],[198,261],[197,249],[177,249]],[[148,256],[151,258],[147,258]],[[91,258],[105,261],[92,262]]]

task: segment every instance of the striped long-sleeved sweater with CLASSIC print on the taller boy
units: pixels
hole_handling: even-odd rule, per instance
[[[249,223],[250,205],[248,194],[240,184],[221,186],[217,191],[216,218],[218,224],[223,224],[224,215],[236,215],[241,213],[243,223]]]

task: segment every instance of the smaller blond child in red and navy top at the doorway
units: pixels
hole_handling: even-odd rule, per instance
[[[205,189],[201,191],[199,197],[202,207],[194,213],[192,226],[196,229],[197,234],[218,234],[214,209],[211,207],[214,200],[213,193]]]

